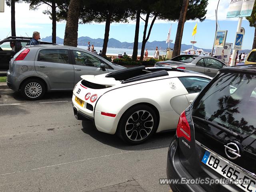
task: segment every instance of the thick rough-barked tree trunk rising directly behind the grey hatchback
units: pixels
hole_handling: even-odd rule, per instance
[[[79,7],[80,0],[70,0],[64,35],[64,45],[77,46],[78,20],[80,15]]]

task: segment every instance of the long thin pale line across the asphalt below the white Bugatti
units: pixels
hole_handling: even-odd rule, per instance
[[[139,151],[146,150],[146,149],[154,149],[154,148],[166,147],[166,146],[169,146],[169,145],[162,145],[162,146],[157,146],[157,147],[144,148],[144,149],[140,149]],[[20,173],[20,172],[26,172],[26,171],[32,171],[32,170],[39,170],[39,169],[48,168],[48,167],[60,166],[60,165],[65,165],[65,164],[70,164],[70,163],[82,162],[82,161],[98,159],[98,158],[103,158],[103,157],[109,157],[109,156],[114,156],[114,155],[120,155],[120,154],[126,154],[126,153],[131,153],[131,152],[135,152],[135,150],[133,150],[133,151],[126,151],[126,152],[120,152],[120,153],[116,153],[116,154],[109,154],[109,155],[104,155],[104,156],[99,156],[99,157],[93,157],[93,158],[88,158],[88,159],[82,159],[82,160],[77,160],[77,161],[71,161],[71,162],[66,162],[66,163],[60,163],[60,164],[56,164],[56,165],[44,166],[44,167],[34,168],[34,169],[30,169],[30,170],[23,170],[23,171],[12,172],[12,173],[5,173],[5,174],[0,174],[0,176],[10,175],[10,174],[15,174],[15,173]]]

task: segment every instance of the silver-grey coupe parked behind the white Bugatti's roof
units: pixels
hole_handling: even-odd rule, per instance
[[[222,60],[210,56],[179,55],[171,60],[159,61],[155,67],[186,69],[214,77],[219,69],[226,67],[226,64]]]

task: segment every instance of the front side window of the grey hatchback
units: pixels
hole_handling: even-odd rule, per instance
[[[86,52],[73,50],[76,65],[100,67],[100,59]]]

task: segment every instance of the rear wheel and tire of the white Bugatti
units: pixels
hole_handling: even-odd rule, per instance
[[[147,105],[129,108],[118,124],[118,136],[132,145],[148,140],[158,126],[156,112]]]

